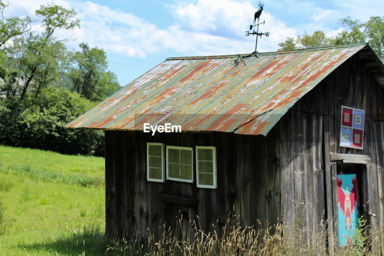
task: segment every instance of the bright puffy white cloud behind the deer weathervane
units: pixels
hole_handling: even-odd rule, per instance
[[[253,23],[257,6],[250,2],[235,2],[230,0],[199,0],[195,5],[178,6],[175,10],[175,18],[180,23],[180,28],[187,31],[206,32],[210,35],[238,41],[243,47],[237,47],[240,53],[253,50],[255,36],[245,37],[245,31]],[[260,31],[269,31],[269,38],[259,40],[259,51],[275,51],[278,43],[284,41],[287,36],[294,35],[296,29],[289,28],[282,21],[276,19],[269,12],[262,13],[265,25],[260,25]],[[235,45],[235,41],[232,45]],[[233,46],[232,46],[233,47]],[[231,51],[231,48],[227,48]],[[237,52],[239,53],[239,52]]]

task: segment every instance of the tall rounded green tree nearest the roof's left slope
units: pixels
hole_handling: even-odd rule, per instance
[[[74,54],[74,67],[70,72],[73,90],[91,101],[101,101],[121,86],[116,75],[107,71],[107,56],[103,49],[90,48],[80,43],[80,51]]]

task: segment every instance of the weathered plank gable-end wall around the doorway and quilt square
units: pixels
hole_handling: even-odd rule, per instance
[[[331,162],[330,153],[371,156],[372,164],[366,165],[363,173],[363,197],[366,206],[364,216],[368,221],[367,225],[371,226],[372,253],[374,254],[383,252],[382,244],[384,244],[382,198],[384,104],[382,102],[384,102],[383,89],[369,74],[361,63],[359,55],[356,54],[296,102],[280,121],[281,127],[289,127],[287,130],[281,130],[283,207],[290,209],[286,211],[287,214],[292,213],[292,208],[295,206],[297,208],[300,203],[303,203],[301,198],[307,195],[308,204],[316,205],[312,212],[306,213],[308,226],[311,227],[313,225],[311,223],[314,223],[311,214],[318,214],[315,217],[316,226],[322,221],[327,221],[328,238],[338,237],[338,206],[335,203],[337,202],[337,166],[336,163]],[[338,145],[343,105],[365,110],[364,150]],[[311,130],[313,130],[312,134],[310,134]],[[308,144],[308,142],[311,143]],[[316,146],[312,147],[311,144]],[[316,180],[323,185],[316,183]],[[293,188],[294,191],[292,191]],[[322,198],[325,199],[322,200]],[[324,218],[319,218],[320,209],[324,211]],[[291,215],[291,217],[294,216]],[[296,219],[297,217],[295,216]],[[290,224],[290,220],[287,219],[287,222]],[[327,246],[329,253],[332,254],[338,244],[334,244],[334,241],[329,239]]]

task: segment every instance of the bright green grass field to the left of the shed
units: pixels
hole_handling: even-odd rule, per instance
[[[104,159],[0,146],[0,255],[99,255]]]

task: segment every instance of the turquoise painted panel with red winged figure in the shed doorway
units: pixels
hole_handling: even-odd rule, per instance
[[[358,228],[356,174],[337,175],[339,246],[351,243]]]

